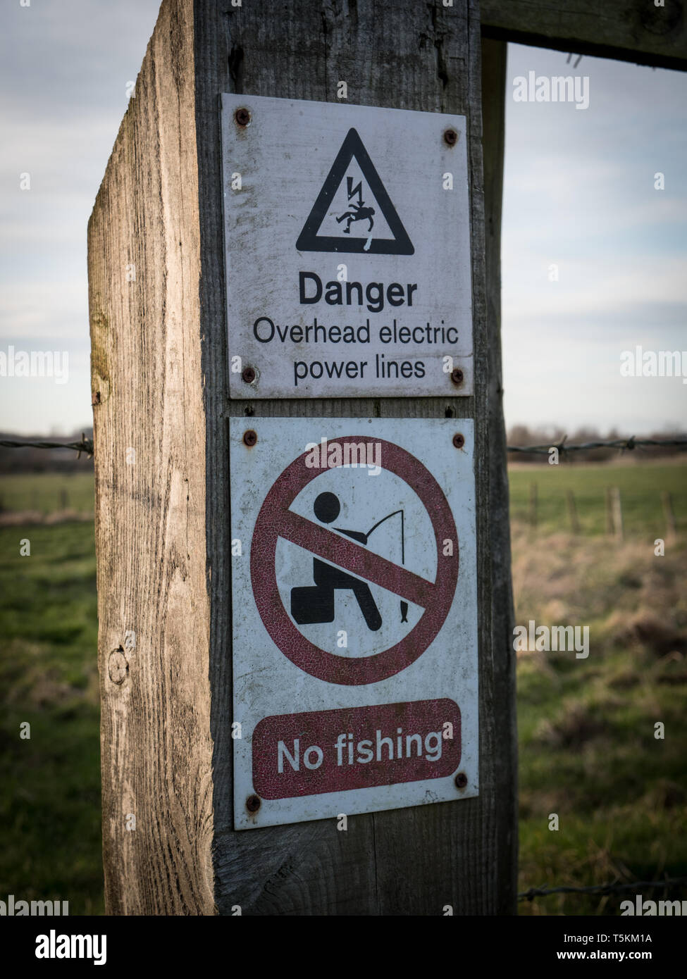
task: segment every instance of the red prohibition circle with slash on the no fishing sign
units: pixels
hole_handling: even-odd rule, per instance
[[[320,649],[294,625],[284,608],[276,583],[276,544],[280,536],[287,540],[291,539],[307,549],[309,534],[318,536],[320,540],[326,539],[323,535],[328,535],[334,547],[347,549],[349,554],[353,553],[360,556],[362,563],[358,568],[353,559],[345,567],[346,570],[363,578],[366,577],[364,571],[366,560],[372,560],[382,567],[394,569],[399,575],[407,575],[409,578],[416,577],[409,576],[405,569],[400,569],[383,558],[375,555],[369,558],[370,552],[360,544],[348,542],[346,538],[339,537],[332,531],[321,528],[312,521],[305,520],[289,509],[304,487],[317,479],[318,476],[330,471],[307,466],[306,458],[311,454],[308,451],[284,469],[270,489],[260,509],[251,544],[251,583],[256,605],[265,628],[287,659],[311,676],[317,676],[318,679],[326,680],[329,683],[356,686],[362,683],[378,683],[380,680],[400,673],[414,663],[436,638],[439,629],[446,621],[456,592],[459,545],[456,523],[446,496],[432,474],[415,456],[399,445],[385,442],[382,439],[373,439],[369,436],[346,436],[330,440],[330,443],[334,442],[342,446],[347,443],[380,444],[382,468],[404,480],[417,493],[427,511],[436,543],[437,573],[434,583],[424,582],[424,580],[417,578],[417,582],[426,585],[422,591],[426,605],[423,606],[424,611],[419,621],[400,642],[381,653],[356,659],[347,659],[343,656],[337,656],[335,653],[329,653],[325,649]],[[293,539],[293,534],[296,532],[292,531],[291,528],[296,528],[298,531],[297,540]],[[443,553],[444,541],[447,538],[454,542],[454,553],[451,555]],[[354,550],[352,551],[351,548]],[[319,556],[322,556],[321,551]],[[336,557],[328,554],[324,555],[324,560],[331,564],[337,563]],[[382,586],[387,587],[391,584],[390,590],[401,594],[401,597],[408,597],[399,591],[398,583],[394,586],[395,580],[392,581],[392,579],[394,579],[393,571],[389,582],[382,584]]]

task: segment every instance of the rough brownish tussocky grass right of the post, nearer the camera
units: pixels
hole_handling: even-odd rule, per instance
[[[589,627],[587,659],[518,656],[519,890],[687,876],[687,548],[660,557],[641,538],[533,537],[521,525],[513,543],[515,622]],[[675,900],[687,888],[637,893]],[[628,896],[519,910],[618,914]]]

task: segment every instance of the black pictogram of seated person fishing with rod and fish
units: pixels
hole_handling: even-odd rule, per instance
[[[341,511],[338,496],[333,492],[320,492],[313,507],[315,516],[322,524],[331,524]],[[404,511],[394,510],[378,520],[367,534],[361,531],[344,530],[335,527],[339,534],[345,534],[359,543],[367,544],[368,537],[391,517],[401,514],[401,563],[406,562],[404,537]],[[349,575],[347,572],[313,558],[313,580],[315,585],[291,588],[291,615],[299,626],[312,626],[334,621],[335,595],[337,590],[352,591],[370,631],[381,628],[382,620],[368,583]],[[408,622],[408,602],[401,601],[401,622]]]

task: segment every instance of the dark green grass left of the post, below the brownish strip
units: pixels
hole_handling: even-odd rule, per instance
[[[0,895],[102,913],[93,527],[0,528],[0,554]]]

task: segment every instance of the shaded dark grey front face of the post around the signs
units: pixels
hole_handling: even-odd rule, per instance
[[[511,913],[515,909],[515,689],[498,318],[487,316],[476,3],[196,0],[197,137],[206,379],[208,561],[217,902],[244,914]],[[467,117],[475,370],[469,398],[228,402],[221,223],[222,91]],[[503,104],[503,92],[500,95]],[[500,201],[500,199],[499,199]],[[497,215],[494,215],[495,218]],[[500,216],[500,204],[499,204]],[[498,254],[498,253],[497,253]],[[498,301],[496,301],[498,304]],[[480,796],[235,833],[226,416],[476,417]]]

